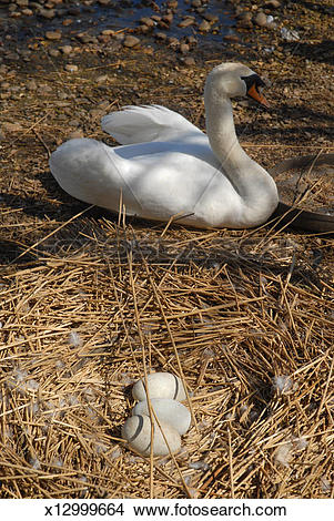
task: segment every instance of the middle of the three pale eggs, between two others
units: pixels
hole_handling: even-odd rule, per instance
[[[186,407],[180,401],[171,400],[171,398],[152,398],[151,405],[159,421],[172,426],[180,436],[185,435],[191,423],[191,415]],[[132,415],[150,416],[148,402],[139,401],[133,408]]]

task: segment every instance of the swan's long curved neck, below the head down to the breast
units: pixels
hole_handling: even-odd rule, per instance
[[[245,221],[263,223],[275,210],[279,197],[270,174],[241,147],[227,96],[215,95],[205,88],[206,133],[211,149],[222,165],[244,206]]]

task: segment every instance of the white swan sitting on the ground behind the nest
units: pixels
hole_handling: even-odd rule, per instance
[[[275,182],[240,146],[231,98],[267,104],[264,83],[240,63],[208,75],[206,133],[163,106],[129,106],[102,120],[123,146],[70,140],[50,157],[60,186],[72,196],[148,219],[195,227],[244,228],[264,223],[279,203]]]

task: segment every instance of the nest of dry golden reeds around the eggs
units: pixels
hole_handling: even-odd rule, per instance
[[[333,496],[328,247],[82,212],[54,225],[2,277],[1,497]],[[121,440],[144,370],[190,391],[174,458]]]

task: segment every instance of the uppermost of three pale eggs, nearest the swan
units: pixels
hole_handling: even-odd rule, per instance
[[[144,401],[146,399],[144,381],[144,378],[142,378],[132,388],[132,396],[135,400]],[[148,375],[148,388],[150,399],[172,398],[182,401],[186,398],[181,378],[171,372],[152,372]]]

